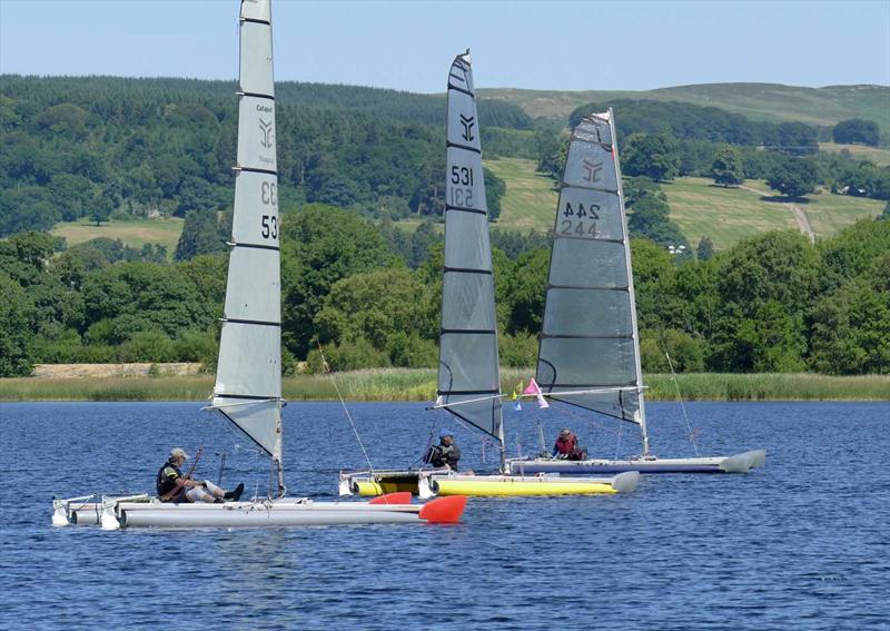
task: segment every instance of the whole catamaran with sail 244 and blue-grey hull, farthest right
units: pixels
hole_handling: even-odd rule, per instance
[[[612,109],[574,129],[556,207],[535,381],[544,396],[633,423],[627,460],[512,460],[523,473],[739,473],[767,453],[659,459],[650,453],[631,248]]]

